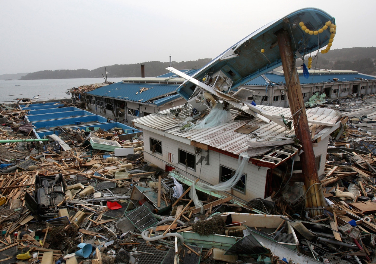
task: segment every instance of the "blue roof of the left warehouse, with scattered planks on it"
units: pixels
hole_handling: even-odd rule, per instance
[[[147,102],[170,93],[175,93],[179,84],[114,83],[87,92],[89,95],[106,96],[134,102]],[[149,88],[140,92],[142,88]],[[138,92],[138,93],[137,93]],[[137,93],[137,94],[136,94]],[[168,96],[170,98],[172,96]],[[180,95],[179,95],[180,97]],[[165,98],[162,98],[165,99]],[[171,99],[173,100],[173,99]],[[158,100],[157,100],[158,101]],[[160,104],[161,105],[161,104]]]

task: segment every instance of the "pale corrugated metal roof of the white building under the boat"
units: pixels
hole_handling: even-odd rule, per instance
[[[271,107],[271,106],[258,106],[265,111],[273,114],[282,114],[285,118],[291,117],[290,108],[282,107]],[[183,111],[180,113],[179,117],[175,117],[174,114],[170,114],[170,110],[162,111],[158,114],[147,115],[146,117],[137,118],[134,121],[136,126],[143,128],[143,126],[151,127],[153,129],[158,129],[166,133],[170,133],[174,136],[179,136],[182,138],[189,139],[191,141],[197,141],[202,144],[209,145],[220,150],[228,151],[233,154],[240,154],[247,150],[247,142],[249,141],[270,141],[278,140],[276,137],[286,137],[294,136],[295,132],[293,130],[288,130],[286,127],[280,126],[277,123],[270,122],[265,123],[259,118],[241,120],[241,121],[230,121],[228,123],[215,126],[208,129],[201,130],[188,130],[184,131],[181,129],[181,123],[187,117],[186,114],[190,113],[191,108],[184,109],[180,106]],[[234,118],[237,112],[232,112],[232,117]],[[319,121],[326,121],[330,123],[336,123],[340,118],[340,114],[329,108],[311,108],[306,110],[307,117],[313,119],[317,118]],[[235,129],[243,126],[244,124],[249,124],[252,126],[259,126],[259,128],[252,133],[246,135],[243,133],[234,132]],[[330,127],[318,125],[316,126],[316,136],[323,135],[328,131]],[[312,124],[310,125],[310,130],[312,130]],[[271,136],[267,137],[267,136]]]

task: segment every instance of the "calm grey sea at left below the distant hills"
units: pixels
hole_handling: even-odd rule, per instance
[[[124,78],[108,78],[108,81],[121,82]],[[16,102],[17,98],[33,98],[33,101],[67,99],[68,89],[93,83],[103,83],[103,78],[78,78],[54,80],[0,80],[0,102]]]

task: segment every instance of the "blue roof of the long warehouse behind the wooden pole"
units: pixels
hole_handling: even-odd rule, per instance
[[[273,83],[279,84],[280,82],[286,83],[284,75],[276,75],[276,74],[264,74],[265,77]],[[344,81],[356,81],[359,78],[365,80],[374,80],[374,77],[364,75],[364,74],[324,74],[324,75],[309,75],[309,78],[304,78],[303,75],[299,75],[300,84],[311,84],[311,83],[329,83],[335,82],[333,78],[337,78],[340,82]],[[252,85],[252,86],[267,86],[268,83],[265,81],[264,78],[257,77],[244,85]],[[271,84],[273,85],[273,84]]]

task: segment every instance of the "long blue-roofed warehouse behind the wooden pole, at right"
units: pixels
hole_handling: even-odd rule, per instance
[[[304,101],[315,93],[325,93],[327,98],[335,99],[355,94],[376,93],[376,77],[356,71],[309,70],[309,77],[298,69],[300,86]],[[288,107],[286,80],[282,67],[261,75],[241,86],[255,91],[247,101],[258,105]]]

